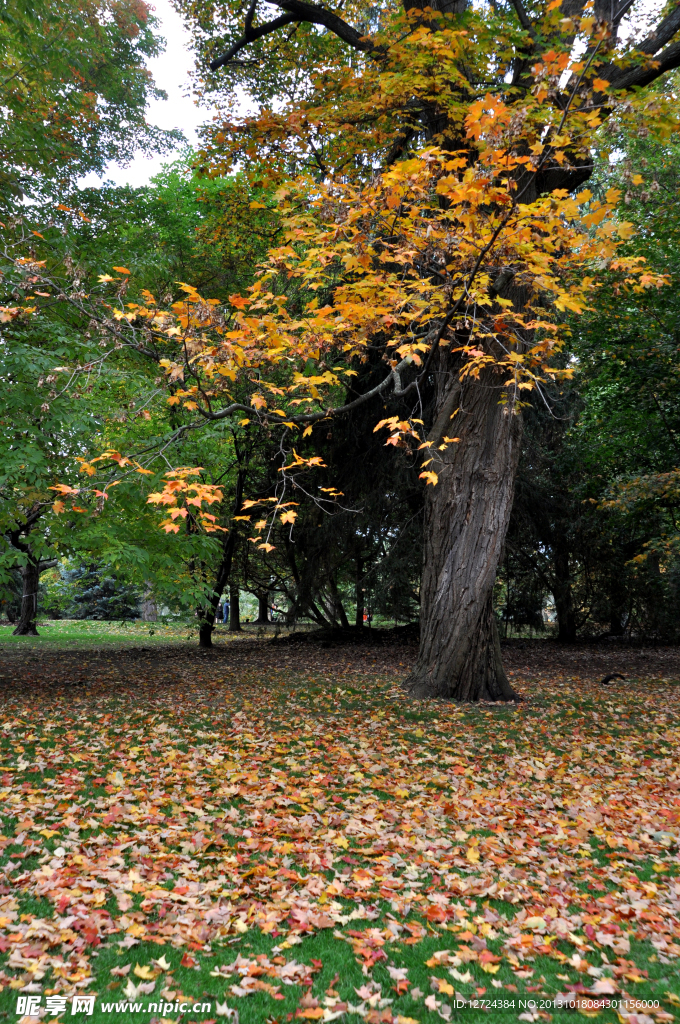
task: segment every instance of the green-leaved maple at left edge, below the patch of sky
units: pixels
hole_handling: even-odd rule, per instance
[[[36,632],[37,595],[43,571],[65,555],[127,565],[142,586],[156,577],[157,589],[173,605],[197,600],[190,578],[177,570],[176,554],[156,529],[145,499],[147,488],[134,474],[116,481],[121,500],[107,514],[108,492],[81,493],[80,467],[93,438],[103,447],[120,442],[139,446],[157,438],[154,408],[157,388],[145,362],[128,350],[103,352],[88,315],[60,300],[62,287],[79,293],[80,270],[71,265],[66,280],[50,276],[46,261],[15,261],[25,245],[26,225],[15,228],[4,252],[4,288],[31,296],[43,291],[44,306],[34,317],[31,305],[0,310],[3,344],[0,368],[3,408],[0,423],[6,443],[0,456],[0,586],[18,569],[23,578],[15,632]],[[55,228],[50,229],[56,233]],[[48,239],[48,244],[49,244]],[[49,289],[46,292],[45,289]],[[31,302],[31,299],[28,299]],[[27,310],[28,311],[25,311]],[[116,354],[116,359],[109,355]],[[168,407],[161,406],[163,427]],[[151,471],[141,475],[155,476]],[[139,476],[137,476],[139,479]],[[189,539],[188,558],[205,557],[205,537]],[[200,593],[202,587],[199,585]]]

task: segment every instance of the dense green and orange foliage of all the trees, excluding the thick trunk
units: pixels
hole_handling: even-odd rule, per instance
[[[417,68],[431,71],[445,39],[453,75],[469,40],[441,27],[418,29],[394,51],[396,91],[388,99],[378,98],[385,81],[380,62],[352,57],[349,68],[337,65],[342,41],[307,27],[288,40],[266,75],[253,75],[250,66],[236,72],[260,104],[257,117],[237,124],[222,109],[205,151],[185,153],[144,188],[77,189],[79,174],[111,157],[126,160],[135,146],[158,148],[171,139],[143,119],[154,94],[143,60],[161,45],[144,5],[92,7],[78,31],[65,28],[68,12],[52,3],[40,10],[15,4],[2,20],[2,59],[11,71],[0,126],[0,143],[11,153],[0,182],[10,214],[3,228],[0,349],[0,415],[11,438],[0,465],[7,610],[17,614],[27,566],[40,573],[69,556],[85,574],[92,559],[112,566],[112,580],[124,572],[134,593],[196,612],[207,630],[229,588],[261,604],[275,602],[291,623],[306,616],[320,626],[360,629],[376,615],[417,618],[423,479],[434,485],[440,461],[428,439],[435,404],[431,383],[418,371],[427,351],[422,338],[428,324],[449,316],[445,297],[457,294],[454,282],[476,250],[459,247],[460,265],[447,264],[449,291],[434,288],[434,279],[426,285],[422,273],[399,278],[391,268],[409,265],[410,247],[424,234],[421,255],[431,273],[451,257],[448,234],[471,240],[476,224],[490,245],[498,236],[502,259],[514,260],[522,287],[543,289],[552,300],[552,312],[545,303],[539,311],[541,299],[511,313],[501,295],[506,286],[499,286],[505,321],[497,310],[482,328],[491,259],[481,278],[469,280],[467,304],[456,300],[450,319],[452,337],[462,343],[463,375],[483,379],[492,361],[511,371],[513,400],[525,407],[495,592],[502,631],[543,630],[554,607],[565,641],[580,632],[675,637],[674,81],[643,104],[621,104],[602,126],[576,111],[575,126],[591,119],[588,131],[596,132],[600,153],[591,189],[580,195],[579,208],[565,194],[512,207],[507,221],[498,213],[497,179],[490,175],[471,203],[472,178],[459,173],[460,161],[447,148],[452,139],[432,135],[429,150],[419,150],[415,124],[402,121],[399,97],[415,87]],[[198,8],[189,16],[204,53],[207,23]],[[392,16],[400,24],[402,15]],[[484,17],[469,15],[466,31],[475,45],[488,47],[498,26]],[[238,41],[222,28],[216,14],[210,46],[220,32],[225,47]],[[556,39],[566,34],[566,44],[572,30],[548,12],[542,31]],[[261,38],[256,52],[264,60],[270,41]],[[520,45],[512,33],[509,39]],[[332,73],[305,79],[303,69],[320,60]],[[422,103],[431,101],[433,87],[419,86]],[[202,89],[223,98],[224,79],[209,75]],[[286,89],[290,103],[274,114],[274,98]],[[343,97],[341,118],[334,90]],[[62,94],[68,101],[59,99],[57,116]],[[466,144],[474,140],[475,174],[491,166],[492,143],[511,137],[512,110],[524,112],[524,136],[526,124],[534,131],[548,117],[541,89],[532,100],[522,95],[509,89],[493,103],[486,97],[475,105],[468,97],[459,108],[460,95],[452,94],[448,117],[453,123],[460,115]],[[335,114],[324,120],[331,108]],[[296,122],[300,111],[304,119]],[[374,163],[397,122],[409,159],[378,179]],[[497,137],[503,125],[506,135]],[[549,159],[568,156],[568,145],[566,136],[553,142]],[[512,197],[511,177],[504,187]],[[35,201],[30,216],[18,210],[22,190]],[[57,193],[62,202],[55,205]],[[626,222],[613,212],[619,196]],[[498,216],[487,216],[490,203]],[[373,226],[367,204],[377,218]],[[387,216],[389,244],[383,239],[376,248],[371,239]],[[538,248],[530,256],[510,252],[510,237],[529,238],[530,218]],[[539,245],[540,238],[546,242]],[[597,280],[584,284],[582,269],[596,253]],[[482,317],[477,336],[463,325],[470,301]],[[573,315],[576,308],[583,311]],[[527,348],[521,339],[528,317],[539,315],[537,343]],[[484,331],[499,343],[505,338],[506,355],[475,340]],[[512,338],[516,345],[507,354]],[[325,411],[333,406],[351,408],[330,419]],[[384,430],[375,430],[379,421],[388,428],[387,445]],[[444,447],[456,443],[441,434]],[[103,460],[102,453],[109,453]],[[159,519],[159,505],[165,518]]]

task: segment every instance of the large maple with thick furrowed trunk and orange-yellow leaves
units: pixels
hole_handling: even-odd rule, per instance
[[[578,4],[341,16],[286,0],[262,26],[255,3],[244,26],[236,5],[188,13],[199,32],[229,24],[215,70],[251,44],[264,62],[263,73],[235,61],[260,110],[216,125],[201,167],[217,175],[241,162],[265,189],[255,215],[267,215],[275,188],[284,244],[228,305],[186,285],[171,307],[153,295],[120,301],[117,330],[165,368],[168,401],[195,414],[182,431],[239,419],[279,436],[275,500],[244,503],[247,514],[258,507],[249,541],[267,554],[272,520],[295,522],[301,474],[322,462],[298,453],[299,432],[313,437],[380,396],[377,429],[426,453],[431,484],[412,691],[511,699],[492,601],[522,391],[559,372],[558,321],[589,300],[597,261],[610,261],[624,293],[661,280],[617,255],[631,225],[618,219],[615,189],[604,200],[568,190],[592,173],[602,118],[623,117],[626,90],[674,67],[674,45],[664,47],[675,15],[634,51],[615,41],[623,9],[607,22]],[[278,35],[287,25],[295,31]],[[571,56],[577,38],[583,59]],[[668,103],[654,104],[656,122],[672,125]],[[372,354],[382,380],[343,403],[343,379]],[[409,400],[408,417],[394,399]]]

